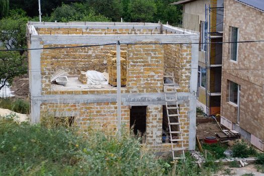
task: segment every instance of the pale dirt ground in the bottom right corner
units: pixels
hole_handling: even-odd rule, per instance
[[[256,171],[254,164],[249,164],[245,167],[238,167],[238,168],[230,168],[229,166],[224,166],[223,169],[218,171],[214,176],[225,176],[225,175],[233,175],[233,176],[240,176],[246,173],[252,173],[255,176],[264,176],[264,173]]]

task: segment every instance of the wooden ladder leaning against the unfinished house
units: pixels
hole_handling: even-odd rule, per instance
[[[165,83],[165,79],[170,78],[172,83]],[[171,143],[171,151],[173,161],[178,159],[185,160],[185,147],[184,147],[184,140],[182,135],[182,128],[180,122],[180,112],[177,100],[177,84],[175,83],[175,79],[173,75],[164,75],[164,95],[165,95],[165,103],[166,103],[166,112],[168,118],[168,128],[169,128],[169,135],[170,135],[170,143]],[[173,88],[172,88],[173,86]],[[171,91],[172,90],[172,91]],[[171,114],[172,111],[172,114]],[[172,122],[171,122],[172,121]],[[172,128],[172,126],[174,128]],[[173,129],[177,128],[177,131],[172,131]],[[173,139],[172,134],[178,134],[178,139]],[[179,143],[175,144],[174,142],[181,143],[181,147],[177,147]],[[177,156],[176,153],[182,152],[181,156]]]

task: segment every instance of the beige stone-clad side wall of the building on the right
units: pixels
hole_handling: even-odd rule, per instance
[[[230,27],[238,28],[238,41],[264,38],[264,13],[234,0],[225,0],[223,41],[230,40]],[[264,141],[264,43],[238,43],[237,62],[230,60],[230,45],[223,45],[221,115],[237,123],[237,107],[228,101],[231,80],[241,86],[240,123],[247,132]]]

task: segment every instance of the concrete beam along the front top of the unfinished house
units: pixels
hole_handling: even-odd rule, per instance
[[[137,42],[192,43],[198,40],[194,34],[169,35],[41,35],[44,44],[121,44]]]

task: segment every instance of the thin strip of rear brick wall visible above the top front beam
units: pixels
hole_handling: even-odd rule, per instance
[[[109,35],[109,34],[160,34],[154,29],[81,29],[81,28],[36,28],[39,35]]]

